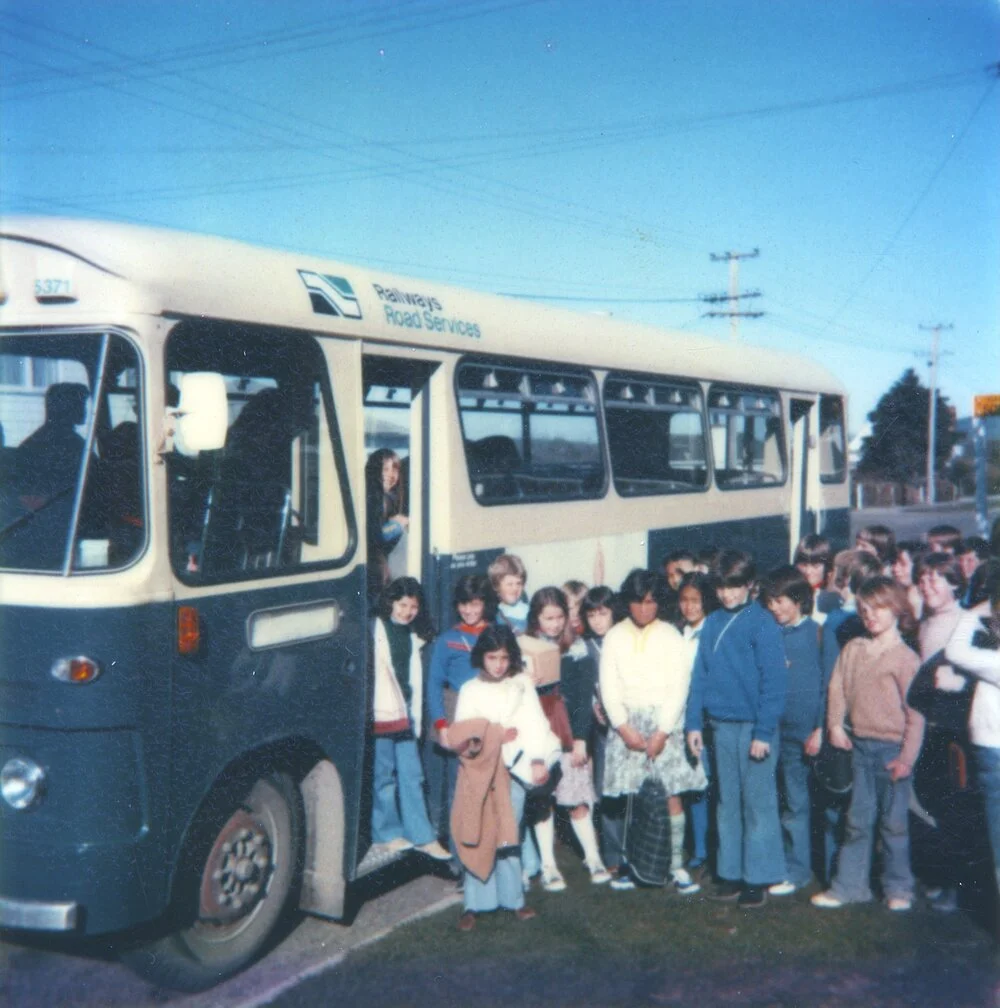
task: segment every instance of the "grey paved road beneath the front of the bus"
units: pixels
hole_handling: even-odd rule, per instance
[[[406,920],[460,899],[453,882],[414,876],[399,865],[372,880],[350,926],[304,918],[252,969],[205,994],[181,995],[151,987],[107,952],[90,956],[53,951],[50,943],[0,942],[0,1004],[4,1008],[252,1008],[272,1001],[353,949],[377,940]]]

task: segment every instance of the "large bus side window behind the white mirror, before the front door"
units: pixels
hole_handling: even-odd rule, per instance
[[[167,343],[170,384],[186,371],[224,376],[230,421],[221,451],[167,460],[178,576],[235,581],[341,559],[351,519],[315,339],[180,327]]]

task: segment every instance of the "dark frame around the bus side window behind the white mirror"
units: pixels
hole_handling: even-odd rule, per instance
[[[345,568],[350,566],[357,555],[358,545],[361,541],[361,537],[358,531],[358,517],[355,509],[354,494],[351,489],[351,479],[350,472],[347,465],[347,455],[344,446],[344,437],[341,431],[340,418],[337,414],[337,409],[334,400],[334,383],[331,369],[327,361],[327,355],[324,353],[324,338],[326,334],[316,333],[312,330],[300,330],[300,329],[289,329],[283,326],[268,326],[264,323],[233,323],[227,320],[221,319],[192,319],[183,318],[178,321],[177,325],[172,327],[169,333],[166,334],[165,339],[162,344],[162,355],[163,355],[163,376],[166,380],[166,376],[170,373],[170,367],[168,362],[168,350],[170,345],[170,340],[176,335],[178,329],[184,327],[186,329],[192,329],[196,332],[209,333],[216,335],[218,333],[234,333],[238,332],[240,338],[246,340],[252,335],[264,336],[268,333],[277,334],[284,339],[291,340],[311,340],[316,348],[318,361],[322,365],[322,380],[320,381],[320,394],[323,401],[323,407],[327,412],[327,424],[329,428],[329,434],[331,439],[331,448],[334,453],[334,470],[337,473],[337,480],[340,484],[340,495],[341,502],[343,505],[344,522],[346,526],[346,541],[344,552],[337,557],[332,557],[329,559],[312,560],[307,563],[298,562],[294,566],[276,566],[276,568],[250,568],[244,572],[221,572],[219,574],[209,574],[202,575],[200,573],[197,576],[193,576],[195,573],[188,572],[182,568],[178,566],[173,562],[173,557],[171,554],[171,549],[169,545],[169,536],[172,534],[170,531],[170,522],[172,521],[171,515],[171,505],[170,505],[170,493],[167,487],[165,493],[166,502],[166,535],[167,543],[164,548],[167,553],[168,563],[173,577],[188,588],[200,589],[200,588],[214,588],[224,585],[244,585],[251,582],[260,581],[273,581],[276,578],[296,578],[303,575],[310,575],[322,571],[340,571]],[[321,508],[324,506],[323,496],[321,494]]]

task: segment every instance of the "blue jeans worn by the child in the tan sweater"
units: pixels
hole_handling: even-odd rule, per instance
[[[899,744],[877,739],[854,743],[854,784],[847,810],[847,830],[831,891],[845,903],[872,898],[870,885],[875,828],[882,839],[882,891],[886,898],[913,895],[909,866],[909,798],[913,778],[893,781],[885,765],[899,755]]]

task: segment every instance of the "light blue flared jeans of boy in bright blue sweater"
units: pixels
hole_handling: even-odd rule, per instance
[[[717,873],[752,886],[780,882],[786,871],[778,818],[777,733],[767,757],[752,760],[752,722],[713,721],[712,730],[719,775]]]

